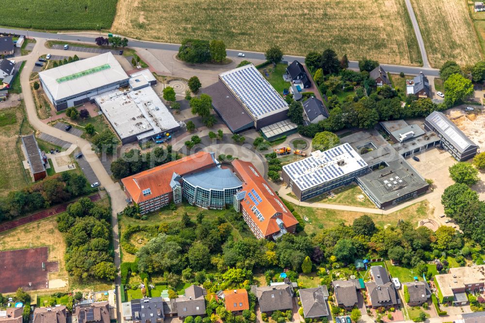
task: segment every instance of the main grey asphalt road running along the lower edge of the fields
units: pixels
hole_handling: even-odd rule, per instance
[[[82,41],[82,42],[89,42],[94,44],[94,40],[96,37],[86,37],[80,35],[68,35],[64,33],[52,33],[52,32],[32,32],[26,30],[19,30],[13,28],[0,28],[0,32],[10,32],[10,33],[17,33],[22,35],[27,35],[29,37],[41,37],[46,39],[57,39],[57,40],[65,40],[65,41]],[[419,34],[420,35],[420,34]],[[422,41],[422,38],[421,38]],[[167,44],[167,43],[156,43],[156,42],[147,42],[147,41],[139,41],[139,40],[129,40],[128,47],[133,48],[149,48],[149,49],[162,49],[162,50],[172,50],[178,51],[180,47],[179,44]],[[421,47],[420,47],[421,48]],[[423,45],[424,48],[424,45]],[[259,59],[264,60],[264,54],[258,52],[247,52],[244,50],[227,50],[227,56],[229,57],[237,57],[238,53],[243,52],[246,56],[246,59]],[[424,53],[423,60],[426,58],[426,53]],[[302,56],[283,56],[284,61],[293,61],[297,60],[301,63],[304,63],[305,57]],[[427,58],[426,58],[427,63]],[[401,73],[404,72],[406,75],[418,75],[420,72],[423,72],[429,76],[439,76],[439,70],[430,67],[418,67],[418,66],[403,66],[403,65],[382,65],[385,70],[389,73]],[[358,69],[358,64],[356,61],[349,62],[349,68]]]

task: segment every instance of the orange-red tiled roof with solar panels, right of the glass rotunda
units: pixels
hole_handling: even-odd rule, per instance
[[[253,219],[265,237],[279,232],[279,226],[276,223],[277,218],[283,221],[285,228],[298,224],[298,220],[295,219],[293,214],[291,214],[279,196],[276,195],[275,191],[261,174],[259,174],[251,162],[237,159],[232,162],[232,165],[234,166],[234,171],[242,180],[242,190],[246,191],[246,197],[241,201],[241,206],[246,210],[251,219]],[[264,221],[259,221],[258,217],[251,210],[255,203],[247,194],[253,189],[262,199],[262,202],[259,202],[256,208],[263,215]]]

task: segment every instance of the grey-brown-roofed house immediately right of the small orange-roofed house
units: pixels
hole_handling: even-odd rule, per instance
[[[251,286],[251,291],[258,298],[259,309],[262,313],[293,308],[293,288],[290,284],[266,287]]]

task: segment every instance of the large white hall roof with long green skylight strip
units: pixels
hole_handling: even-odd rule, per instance
[[[128,80],[111,52],[39,72],[39,78],[57,101],[107,84]]]

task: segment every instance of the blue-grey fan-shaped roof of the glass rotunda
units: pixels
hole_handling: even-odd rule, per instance
[[[183,180],[206,190],[224,191],[242,186],[242,182],[230,169],[219,167],[184,176]]]

